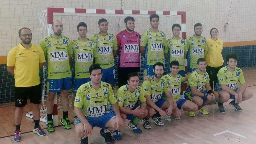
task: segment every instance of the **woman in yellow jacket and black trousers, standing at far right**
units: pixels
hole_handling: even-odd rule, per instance
[[[217,73],[223,67],[222,49],[223,42],[218,38],[218,30],[212,28],[210,38],[206,41],[205,45],[205,59],[207,63],[206,72],[209,74],[210,85],[213,90],[217,82]]]

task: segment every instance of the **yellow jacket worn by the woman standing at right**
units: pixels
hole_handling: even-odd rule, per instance
[[[205,45],[205,59],[207,65],[210,67],[220,67],[223,65],[224,60],[222,57],[223,42],[221,39],[213,40],[209,38]]]

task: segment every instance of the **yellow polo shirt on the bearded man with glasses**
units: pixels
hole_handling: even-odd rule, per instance
[[[19,44],[9,51],[6,65],[14,66],[16,87],[30,87],[40,84],[39,63],[44,62],[45,56],[41,47],[32,44],[30,49],[26,49]]]

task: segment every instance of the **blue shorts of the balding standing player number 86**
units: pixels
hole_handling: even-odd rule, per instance
[[[59,93],[61,90],[69,90],[71,87],[70,77],[63,79],[47,79],[48,92]]]

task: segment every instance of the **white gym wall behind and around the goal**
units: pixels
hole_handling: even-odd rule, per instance
[[[70,0],[0,0],[0,56],[7,55],[8,51],[19,43],[18,30],[22,27],[30,28],[33,33],[32,42],[39,44],[41,30],[37,14],[47,7],[186,11],[187,36],[193,34],[194,24],[201,22],[203,35],[206,38],[209,38],[210,29],[216,27],[219,30],[219,38],[224,42],[256,40],[256,1],[252,0],[240,0],[238,4],[238,0],[72,1],[74,2]],[[233,10],[234,13],[228,22],[229,29],[225,33],[223,26],[227,22],[229,10],[229,15]]]

